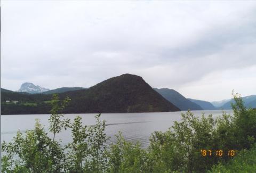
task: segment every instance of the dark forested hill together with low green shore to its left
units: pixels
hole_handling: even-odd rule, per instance
[[[71,102],[63,113],[117,113],[180,111],[141,77],[125,74],[102,81],[89,89],[59,94]],[[2,93],[2,114],[49,113],[51,94]],[[6,103],[6,101],[10,103]],[[18,101],[13,104],[13,101]]]

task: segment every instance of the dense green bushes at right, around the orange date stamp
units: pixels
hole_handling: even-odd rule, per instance
[[[230,158],[203,157],[201,149],[250,149],[256,137],[256,111],[246,109],[238,94],[233,96],[234,116],[223,112],[214,120],[211,115],[198,118],[188,111],[181,114],[181,122],[174,122],[165,133],[154,132],[149,147],[151,172],[205,172],[213,164],[225,164]]]

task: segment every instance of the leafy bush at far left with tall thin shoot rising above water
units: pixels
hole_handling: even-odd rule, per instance
[[[55,140],[55,135],[69,126],[70,120],[62,119],[63,115],[60,114],[69,100],[66,98],[60,101],[57,94],[52,97],[49,131],[53,138],[36,120],[33,130],[26,130],[25,134],[18,131],[13,142],[3,142],[2,151],[6,154],[2,158],[4,172],[62,172],[65,154],[60,142]]]

